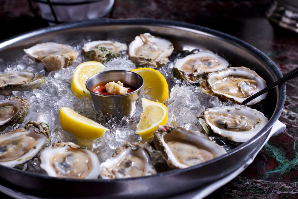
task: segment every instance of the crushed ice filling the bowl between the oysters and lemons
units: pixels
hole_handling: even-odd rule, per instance
[[[74,142],[95,152],[100,162],[103,162],[110,158],[114,150],[117,147],[121,147],[125,141],[139,142],[142,140],[140,135],[135,134],[135,131],[142,112],[141,98],[145,97],[145,95],[141,92],[136,114],[133,117],[124,117],[122,119],[113,117],[110,114],[103,115],[103,113],[94,109],[92,101],[88,98],[80,99],[73,95],[70,86],[75,67],[84,61],[89,61],[88,58],[80,55],[80,49],[84,43],[86,41],[82,41],[75,46],[75,51],[79,53],[75,63],[60,71],[47,73],[43,64],[36,63],[27,55],[7,66],[5,71],[27,70],[45,75],[46,83],[41,89],[33,89],[32,92],[13,91],[14,96],[28,100],[30,109],[22,124],[7,127],[4,132],[22,128],[28,121],[45,122],[49,124],[51,133],[49,145],[57,141]],[[192,52],[187,51],[187,53],[190,54]],[[169,111],[168,122],[186,129],[198,130],[196,115],[208,107],[217,107],[222,104],[218,102],[217,97],[207,96],[199,87],[176,80],[172,76],[174,63],[181,56],[183,57],[183,53],[178,53],[176,58],[172,57],[168,64],[157,69],[166,78],[169,85],[170,99],[164,102]],[[122,53],[122,57],[114,58],[104,65],[107,67],[105,70],[131,70],[136,68],[135,64],[128,59],[126,53]],[[0,99],[3,100],[5,97],[0,96]],[[105,133],[103,137],[92,141],[76,138],[71,133],[64,131],[60,126],[59,112],[62,106],[74,107],[75,111],[97,121],[110,129],[110,131]],[[163,171],[165,167],[163,166],[164,161],[161,152],[153,149],[150,142],[144,143],[144,146],[150,153],[152,163],[158,170]],[[18,168],[24,171],[45,173],[40,168],[37,158],[28,161]]]

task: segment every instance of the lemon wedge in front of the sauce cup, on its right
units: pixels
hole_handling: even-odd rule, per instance
[[[162,103],[150,101],[142,98],[143,112],[141,120],[137,127],[137,134],[142,135],[143,139],[149,139],[154,136],[158,125],[167,123],[168,110]]]

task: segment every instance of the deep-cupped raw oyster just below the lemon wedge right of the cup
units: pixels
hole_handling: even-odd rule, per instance
[[[226,153],[218,144],[200,132],[169,125],[154,133],[154,146],[162,151],[162,158],[173,169],[194,166]]]

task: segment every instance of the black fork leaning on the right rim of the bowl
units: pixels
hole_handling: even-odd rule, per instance
[[[274,88],[276,86],[279,86],[279,85],[285,83],[286,81],[289,81],[289,80],[294,79],[296,77],[298,77],[298,67],[295,68],[294,70],[292,70],[291,72],[289,72],[283,78],[280,78],[279,80],[277,80],[273,84],[270,84],[268,87],[260,90],[256,94],[250,96],[249,98],[247,98],[246,100],[244,100],[243,102],[241,102],[240,105],[245,105],[245,104],[249,103],[250,101],[252,101],[253,99],[259,97],[260,95],[263,95],[264,93],[268,92],[270,89],[272,89],[272,88]]]

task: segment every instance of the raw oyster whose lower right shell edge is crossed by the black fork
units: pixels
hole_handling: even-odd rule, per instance
[[[200,87],[203,92],[240,104],[250,95],[264,89],[266,81],[249,68],[230,67],[209,73]],[[266,98],[266,95],[267,93],[255,98],[247,105],[260,102]]]

